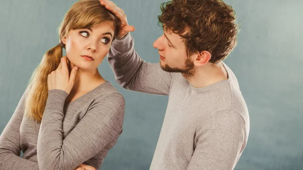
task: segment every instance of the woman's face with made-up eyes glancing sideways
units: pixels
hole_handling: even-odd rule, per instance
[[[70,30],[62,39],[68,60],[82,70],[96,69],[110,50],[114,31],[112,21],[104,21],[92,28]]]

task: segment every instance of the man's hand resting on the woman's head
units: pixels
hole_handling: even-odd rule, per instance
[[[128,25],[126,15],[124,11],[117,7],[115,3],[110,0],[99,0],[100,4],[105,6],[106,9],[114,13],[121,20],[121,30],[118,34],[119,38],[123,38],[128,32],[132,32],[135,30],[135,27]]]

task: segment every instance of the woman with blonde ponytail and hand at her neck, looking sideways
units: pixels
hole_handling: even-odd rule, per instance
[[[119,31],[98,0],[70,8],[1,134],[0,169],[99,169],[124,119],[123,96],[97,70]]]

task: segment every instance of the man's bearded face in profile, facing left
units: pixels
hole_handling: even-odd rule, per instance
[[[164,30],[153,45],[159,49],[160,66],[164,71],[184,74],[193,71],[193,62],[187,57],[185,44],[178,34]]]

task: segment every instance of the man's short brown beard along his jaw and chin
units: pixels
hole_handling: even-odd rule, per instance
[[[170,73],[181,73],[183,75],[183,77],[185,78],[189,78],[191,76],[193,76],[194,74],[194,65],[193,63],[190,61],[190,58],[187,58],[185,61],[185,66],[183,68],[172,68],[170,66],[168,66],[168,64],[165,64],[165,66],[161,66],[161,60],[159,62],[160,67],[162,68],[162,70],[166,71],[166,72],[170,72]]]

